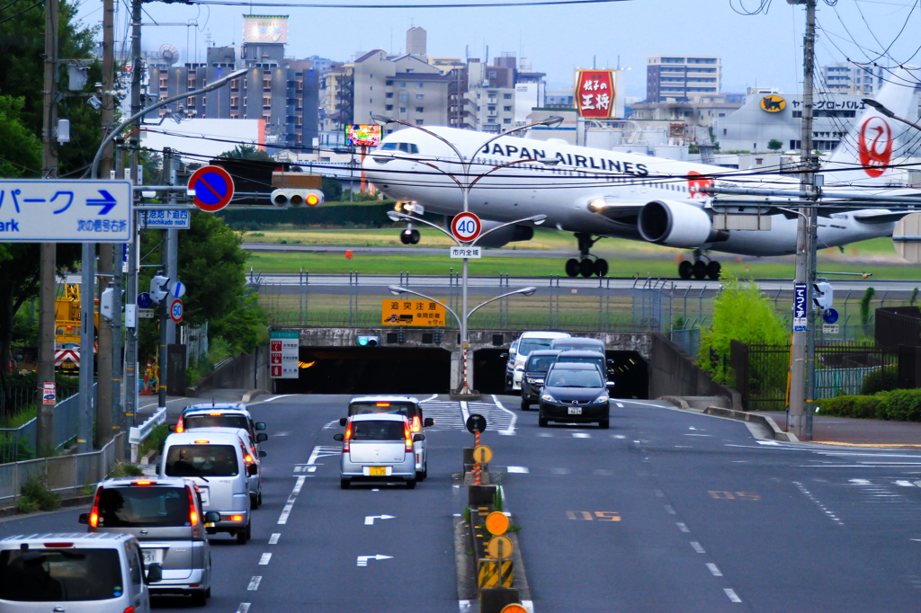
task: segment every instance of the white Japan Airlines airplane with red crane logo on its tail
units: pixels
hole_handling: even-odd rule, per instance
[[[907,69],[892,72],[876,101],[895,115],[913,116],[910,107],[918,80]],[[817,97],[818,99],[818,97]],[[904,159],[917,142],[913,128],[896,123],[865,105],[854,129],[822,164],[823,206],[819,212],[820,248],[843,247],[875,237],[892,237],[895,224],[910,214],[908,197],[921,191],[905,188]],[[437,136],[448,141],[442,142]],[[604,276],[606,260],[590,253],[604,237],[621,237],[657,245],[692,249],[693,261],[678,267],[682,279],[718,279],[720,264],[710,252],[752,256],[780,256],[797,250],[799,174],[779,168],[737,170],[653,156],[612,152],[562,140],[537,140],[513,135],[495,138],[489,133],[448,127],[402,129],[381,139],[365,157],[368,180],[397,201],[397,209],[454,215],[463,210],[463,188],[469,183],[469,209],[483,220],[483,231],[501,224],[543,214],[545,227],[572,232],[579,259],[565,263],[571,277]],[[465,174],[459,156],[470,169]],[[893,181],[900,180],[901,187]],[[461,188],[461,189],[459,189]],[[736,188],[743,195],[723,195],[712,189]],[[786,192],[752,195],[753,190]],[[878,197],[878,202],[854,206],[854,195]],[[887,202],[891,198],[894,202]],[[901,202],[900,199],[901,198]],[[751,212],[760,202],[763,227],[717,229],[714,215],[723,202]],[[834,203],[837,206],[834,206]],[[921,200],[918,201],[921,203]],[[785,206],[786,204],[786,206]],[[880,208],[894,206],[895,210]],[[729,206],[727,204],[726,206]],[[716,209],[715,209],[716,207]],[[530,240],[533,223],[507,226],[477,244],[502,247]],[[401,233],[404,244],[419,241],[409,226]]]

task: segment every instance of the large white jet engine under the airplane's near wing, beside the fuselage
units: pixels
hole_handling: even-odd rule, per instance
[[[636,222],[639,234],[650,243],[666,247],[697,249],[705,243],[729,238],[725,230],[714,230],[704,209],[685,202],[648,202]]]

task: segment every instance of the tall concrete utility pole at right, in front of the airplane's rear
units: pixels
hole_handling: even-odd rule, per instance
[[[799,136],[800,176],[799,193],[803,200],[816,200],[815,173],[812,163],[812,73],[815,64],[815,5],[816,0],[801,0],[806,5],[806,33],[803,35],[803,105]],[[797,256],[794,283],[805,285],[806,326],[796,330],[794,318],[793,341],[790,352],[790,407],[787,429],[800,438],[807,433],[807,422],[812,422],[815,368],[815,330],[812,306],[812,283],[815,283],[815,231],[817,211],[815,206],[799,207],[797,225]],[[808,223],[807,223],[808,222]],[[808,347],[807,347],[808,345]],[[808,349],[808,351],[807,351]],[[810,368],[807,366],[810,365]],[[810,376],[807,376],[810,375]]]

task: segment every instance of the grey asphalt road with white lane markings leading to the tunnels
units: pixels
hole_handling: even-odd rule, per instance
[[[535,411],[497,401],[469,411],[491,424],[537,613],[921,608],[917,452],[759,441],[649,401],[613,404],[610,430],[538,428]],[[346,402],[251,404],[270,435],[264,503],[249,544],[213,539],[204,610],[459,610],[451,525],[466,501],[450,476],[472,438],[459,403],[426,399],[437,423],[414,491],[342,491],[332,434]],[[6,519],[0,536],[77,530],[85,510]]]

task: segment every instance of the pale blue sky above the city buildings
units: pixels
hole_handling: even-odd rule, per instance
[[[412,0],[388,1],[413,4]],[[432,0],[422,1],[432,4]],[[429,55],[463,58],[469,46],[470,57],[482,59],[488,45],[490,59],[503,52],[528,58],[533,70],[546,73],[548,87],[572,87],[577,68],[619,65],[630,69],[621,73],[621,95],[645,98],[647,55],[689,54],[722,56],[725,92],[744,92],[746,87],[757,86],[797,93],[802,82],[805,10],[783,0],[771,0],[766,14],[736,12],[753,11],[761,1],[626,0],[595,5],[439,9],[254,6],[252,13],[289,15],[286,54],[297,58],[319,55],[349,61],[373,49],[400,52],[405,48],[406,29],[415,25],[428,33]],[[126,40],[128,4],[126,0],[116,3],[116,37],[121,41]],[[194,58],[196,49],[199,61],[204,61],[208,38],[218,46],[239,44],[241,16],[250,12],[249,6],[156,2],[146,3],[145,10],[145,23],[197,20],[197,28],[143,30],[146,50],[172,44],[181,52],[183,63]],[[83,0],[78,10],[87,26],[99,25],[101,13],[101,0]],[[817,20],[818,64],[850,58],[856,62],[879,59],[882,65],[921,65],[921,53],[917,52],[921,40],[916,36],[921,27],[921,0],[914,4],[910,0],[838,0],[834,6],[820,0]]]

